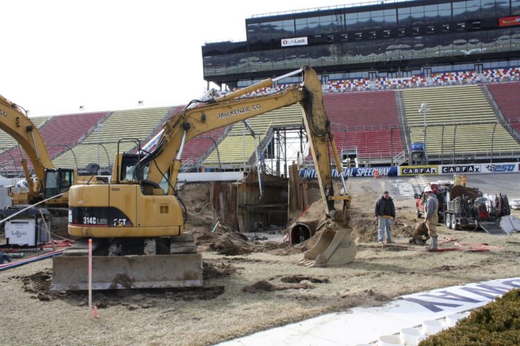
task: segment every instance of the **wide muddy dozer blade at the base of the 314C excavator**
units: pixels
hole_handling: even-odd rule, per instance
[[[88,256],[53,258],[53,291],[88,289]],[[202,286],[202,255],[93,256],[92,289]]]

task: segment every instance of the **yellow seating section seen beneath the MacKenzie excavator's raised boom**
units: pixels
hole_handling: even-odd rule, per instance
[[[247,120],[250,127],[266,138],[271,127],[302,126],[302,110],[300,104],[269,111],[260,116]],[[218,145],[218,152],[214,150],[205,159],[205,166],[233,165],[249,161],[255,147],[258,145],[258,137],[252,138],[250,131],[245,129],[242,122],[233,125],[229,134]]]

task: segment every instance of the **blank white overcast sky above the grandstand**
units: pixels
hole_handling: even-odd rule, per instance
[[[325,0],[319,7],[357,3]],[[187,104],[201,47],[245,41],[245,19],[316,0],[3,0],[0,95],[30,116]],[[214,85],[212,85],[214,86]],[[142,100],[143,106],[138,106]]]

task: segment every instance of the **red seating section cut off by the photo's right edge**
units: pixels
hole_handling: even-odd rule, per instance
[[[489,84],[487,87],[504,117],[520,133],[520,82]]]

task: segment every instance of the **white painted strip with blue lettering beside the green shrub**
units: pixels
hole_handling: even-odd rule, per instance
[[[439,320],[453,313],[481,307],[510,289],[520,287],[520,277],[450,286],[404,295],[383,307],[354,308],[261,331],[218,345],[357,345],[374,343],[383,335],[399,335],[403,328],[424,320]],[[444,323],[444,321],[442,321]]]

